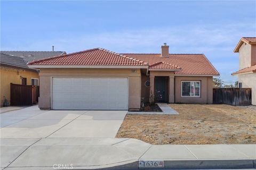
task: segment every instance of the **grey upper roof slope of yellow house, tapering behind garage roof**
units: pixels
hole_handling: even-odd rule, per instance
[[[1,53],[23,58],[27,63],[35,60],[40,60],[46,57],[66,54],[66,52],[58,51],[1,51]]]

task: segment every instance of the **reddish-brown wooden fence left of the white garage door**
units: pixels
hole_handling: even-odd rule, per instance
[[[39,86],[11,83],[11,105],[25,106],[38,103]]]

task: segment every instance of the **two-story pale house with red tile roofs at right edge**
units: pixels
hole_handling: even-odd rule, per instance
[[[256,105],[256,37],[243,37],[234,49],[239,53],[239,88],[252,88],[252,105]]]

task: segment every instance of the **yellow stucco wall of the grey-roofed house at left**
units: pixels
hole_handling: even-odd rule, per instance
[[[27,85],[31,85],[31,78],[38,79],[38,73],[30,70],[18,69],[15,67],[2,66],[0,69],[1,74],[1,106],[3,106],[4,96],[11,102],[11,87],[10,83],[21,84],[21,78],[27,78]],[[19,73],[19,74],[18,74]]]

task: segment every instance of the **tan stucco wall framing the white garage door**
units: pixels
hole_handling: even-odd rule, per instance
[[[132,73],[132,70],[136,70]],[[128,77],[129,109],[140,109],[141,72],[140,69],[40,69],[39,108],[51,109],[52,77]]]

